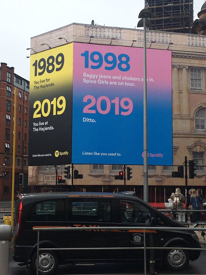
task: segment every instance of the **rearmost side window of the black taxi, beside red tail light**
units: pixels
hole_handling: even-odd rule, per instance
[[[66,200],[43,200],[35,203],[27,221],[66,221]]]

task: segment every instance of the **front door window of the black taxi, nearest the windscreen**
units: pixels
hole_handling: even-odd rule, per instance
[[[150,224],[151,212],[146,207],[132,201],[121,200],[121,223]]]

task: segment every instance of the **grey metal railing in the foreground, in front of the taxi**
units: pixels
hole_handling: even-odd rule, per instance
[[[36,259],[39,259],[40,250],[144,250],[144,274],[147,274],[146,268],[146,250],[150,250],[150,275],[155,274],[155,256],[154,250],[170,250],[170,249],[180,249],[180,250],[206,250],[206,248],[193,248],[193,247],[154,247],[153,246],[153,233],[158,230],[162,231],[205,231],[205,228],[193,228],[193,227],[53,227],[53,228],[33,228],[37,231],[37,255]],[[144,246],[143,247],[87,247],[87,248],[39,248],[39,235],[41,231],[91,231],[91,230],[118,230],[118,231],[128,231],[128,230],[138,230],[143,231]],[[150,231],[149,243],[150,246],[146,247],[146,230]],[[151,232],[154,231],[154,232]],[[152,244],[152,245],[151,245]],[[36,261],[37,262],[37,261]],[[38,261],[39,265],[39,261]],[[39,266],[36,267],[36,275],[39,274]]]

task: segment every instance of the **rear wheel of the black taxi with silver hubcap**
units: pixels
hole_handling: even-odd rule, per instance
[[[34,253],[31,259],[31,266],[33,271],[36,272],[36,259],[37,253]],[[51,275],[54,274],[54,272],[58,268],[58,258],[57,255],[53,251],[45,251],[42,253],[39,253],[39,275],[47,274]]]

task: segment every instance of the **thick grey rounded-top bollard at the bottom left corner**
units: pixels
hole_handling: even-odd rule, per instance
[[[0,225],[0,275],[9,274],[9,242],[12,235],[10,225]]]

